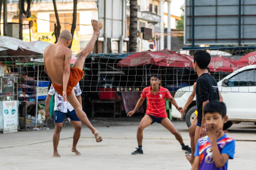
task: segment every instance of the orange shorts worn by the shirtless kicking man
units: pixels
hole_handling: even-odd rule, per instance
[[[80,70],[76,67],[71,67],[69,72],[69,81],[67,83],[67,96],[72,93],[73,87],[77,85],[77,83],[82,79],[84,76],[84,71]],[[59,95],[63,96],[63,85],[55,85],[53,84],[54,89],[59,93]]]

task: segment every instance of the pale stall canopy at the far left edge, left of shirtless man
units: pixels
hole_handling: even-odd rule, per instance
[[[44,52],[13,37],[0,36],[0,55],[28,56],[42,55]]]

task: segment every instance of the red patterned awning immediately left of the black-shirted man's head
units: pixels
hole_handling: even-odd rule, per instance
[[[193,67],[193,57],[176,53],[174,51],[166,52],[166,55],[164,55],[164,59],[156,62],[154,65],[165,67]]]

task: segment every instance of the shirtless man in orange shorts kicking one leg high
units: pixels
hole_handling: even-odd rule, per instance
[[[68,48],[72,42],[72,35],[68,30],[61,31],[58,42],[49,45],[44,50],[44,71],[49,75],[54,89],[63,96],[64,101],[68,101],[74,107],[77,117],[92,131],[95,135],[96,142],[101,142],[102,137],[99,132],[92,126],[87,118],[87,115],[82,110],[77,97],[73,92],[73,87],[82,79],[84,71],[84,61],[89,55],[97,37],[100,34],[100,29],[97,20],[92,20],[93,35],[87,46],[77,56],[77,60],[70,68],[70,60],[72,51]]]

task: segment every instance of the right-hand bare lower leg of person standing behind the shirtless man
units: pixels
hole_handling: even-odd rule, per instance
[[[73,135],[73,145],[71,151],[74,152],[76,155],[80,155],[77,150],[77,142],[81,135],[82,123],[80,121],[71,121],[74,127],[74,135]]]

